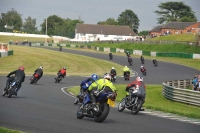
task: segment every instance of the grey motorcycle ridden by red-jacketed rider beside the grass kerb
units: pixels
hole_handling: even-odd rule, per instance
[[[129,89],[129,96],[124,97],[119,105],[118,111],[122,112],[125,108],[131,110],[131,113],[136,115],[139,111],[144,111],[142,105],[144,103],[145,90],[139,87],[138,89]]]

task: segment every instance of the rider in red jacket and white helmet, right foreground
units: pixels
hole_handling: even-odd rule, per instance
[[[146,86],[145,86],[145,83],[143,82],[143,77],[141,77],[141,76],[138,76],[138,77],[136,77],[136,79],[133,81],[133,82],[131,82],[130,84],[128,84],[127,86],[126,86],[126,102],[128,102],[128,100],[129,100],[129,89],[130,88],[133,88],[134,90],[137,90],[137,89],[141,89],[141,91],[142,91],[142,94],[144,95],[144,101],[143,101],[143,103],[145,102],[145,98],[146,98]],[[141,109],[141,110],[144,110],[144,109]]]

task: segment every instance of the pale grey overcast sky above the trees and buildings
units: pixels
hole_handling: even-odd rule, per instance
[[[36,18],[38,29],[44,19],[51,15],[78,19],[85,24],[97,24],[108,18],[117,19],[126,9],[132,10],[140,20],[139,31],[151,30],[157,25],[158,5],[167,1],[183,1],[190,6],[200,21],[200,0],[0,0],[0,13],[14,8],[23,21]]]

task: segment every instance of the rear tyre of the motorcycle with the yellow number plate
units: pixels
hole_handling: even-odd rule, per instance
[[[101,123],[108,116],[110,107],[107,103],[102,103],[99,107],[100,107],[100,114],[94,115],[94,121]]]

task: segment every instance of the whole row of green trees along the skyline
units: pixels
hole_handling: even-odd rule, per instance
[[[159,17],[157,24],[166,24],[168,22],[197,22],[195,12],[184,2],[164,2],[158,5],[159,10],[154,11]],[[138,35],[148,35],[148,30],[138,32],[140,20],[132,10],[126,9],[119,14],[117,19],[108,18],[105,21],[99,21],[100,25],[124,25],[129,26]],[[83,24],[79,19],[61,18],[57,15],[47,17],[47,34],[74,38],[76,23]],[[5,27],[5,25],[7,27]],[[11,26],[11,27],[9,27]],[[29,34],[46,34],[46,19],[40,24],[41,30],[36,27],[36,18],[28,16],[22,20],[22,15],[14,8],[6,13],[1,13],[0,32],[24,32]]]

